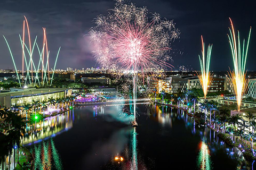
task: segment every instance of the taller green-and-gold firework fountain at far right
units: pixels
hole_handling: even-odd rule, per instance
[[[232,20],[230,18],[229,20],[231,23],[231,29],[229,28],[230,35],[228,35],[228,39],[229,39],[229,45],[230,45],[232,57],[233,57],[234,70],[233,71],[230,70],[230,72],[228,72],[229,74],[228,81],[229,81],[229,84],[232,85],[232,88],[235,92],[237,107],[239,112],[240,106],[243,100],[243,95],[246,93],[248,83],[249,83],[249,79],[246,79],[245,64],[246,64],[246,58],[247,58],[247,52],[248,52],[252,28],[250,28],[246,47],[245,47],[245,40],[243,40],[243,47],[241,47],[239,31],[237,31],[238,36],[236,39]],[[237,47],[237,44],[238,44],[238,47]]]

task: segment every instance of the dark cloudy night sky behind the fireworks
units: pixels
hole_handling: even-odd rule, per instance
[[[201,35],[205,45],[211,43],[212,57],[210,69],[226,71],[233,69],[231,51],[228,43],[228,27],[233,20],[235,29],[241,37],[249,34],[252,26],[249,54],[246,67],[256,70],[256,7],[254,1],[168,1],[168,0],[132,0],[126,3],[146,6],[148,12],[157,12],[162,18],[174,20],[180,30],[180,38],[172,45],[174,70],[185,65],[190,69],[199,69],[198,54],[201,53]],[[61,52],[57,68],[99,66],[92,56],[92,45],[86,36],[94,27],[93,19],[106,15],[114,7],[114,1],[100,0],[1,0],[0,34],[4,35],[11,46],[18,69],[21,69],[22,49],[19,33],[22,34],[23,15],[26,15],[30,27],[31,39],[38,36],[37,43],[43,46],[43,29],[46,27],[50,50],[50,67],[59,46]],[[14,69],[4,38],[0,37],[0,69]]]

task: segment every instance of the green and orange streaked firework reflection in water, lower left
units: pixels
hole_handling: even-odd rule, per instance
[[[63,169],[61,158],[55,148],[52,138],[34,145],[34,148],[31,148],[30,152],[34,158],[35,170]]]

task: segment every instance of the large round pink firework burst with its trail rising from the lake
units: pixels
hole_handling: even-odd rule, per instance
[[[157,13],[148,21],[147,8],[132,3],[118,1],[110,11],[107,16],[99,15],[97,26],[90,30],[93,53],[103,67],[132,71],[135,121],[138,73],[172,67],[166,61],[171,58],[171,41],[178,38],[179,30],[173,21],[161,20]]]

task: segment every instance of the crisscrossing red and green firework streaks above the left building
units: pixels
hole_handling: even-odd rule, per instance
[[[30,84],[30,86],[36,86],[36,84],[38,84],[39,86],[44,86],[45,83],[47,83],[47,85],[52,84],[52,79],[53,79],[53,75],[54,75],[54,71],[55,71],[55,66],[58,60],[58,56],[59,56],[59,52],[60,52],[60,48],[58,50],[56,59],[55,59],[55,63],[54,63],[54,69],[52,72],[52,78],[50,78],[50,67],[49,67],[49,56],[50,56],[50,50],[48,50],[48,45],[47,45],[47,38],[46,38],[46,29],[43,28],[43,32],[44,32],[44,36],[43,36],[43,48],[40,49],[36,40],[37,40],[37,36],[35,37],[35,41],[34,43],[31,42],[31,38],[30,38],[30,31],[29,31],[29,25],[28,25],[28,21],[26,16],[24,16],[25,20],[23,20],[23,33],[22,33],[22,37],[19,35],[20,37],[20,43],[21,43],[21,47],[22,47],[22,78],[20,80],[19,77],[19,72],[17,70],[17,66],[15,64],[15,60],[10,48],[10,45],[7,41],[7,39],[4,37],[6,44],[9,48],[9,52],[11,54],[12,57],[12,61],[14,64],[14,68],[17,74],[17,78],[20,84],[20,88],[22,88],[22,86],[25,86],[27,84]],[[27,26],[27,35],[28,35],[28,44],[26,45],[26,27],[25,27],[25,23]],[[36,65],[36,63],[33,60],[34,57],[34,49],[35,47],[37,47],[38,50],[38,55],[39,55],[39,63],[38,65]],[[46,51],[46,52],[45,52]],[[45,57],[46,54],[46,57]],[[44,65],[44,63],[46,62],[46,64]],[[42,65],[42,70],[40,70],[40,66]],[[26,67],[25,67],[26,66]],[[30,70],[31,67],[31,70]],[[26,70],[26,71],[25,71]],[[29,72],[31,73],[29,75]],[[39,72],[42,72],[42,80],[39,80]],[[33,73],[35,73],[35,77],[33,78]],[[35,81],[34,81],[35,80]],[[51,81],[50,81],[51,80]]]

